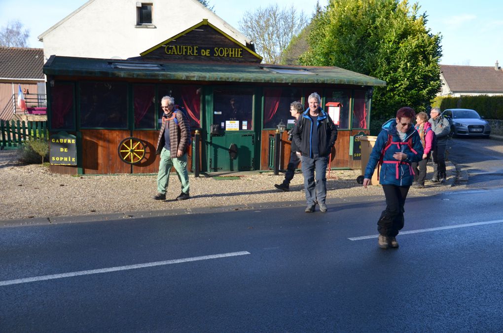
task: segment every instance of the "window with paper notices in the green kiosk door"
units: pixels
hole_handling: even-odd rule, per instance
[[[213,91],[213,124],[226,131],[253,129],[254,90],[216,88]]]

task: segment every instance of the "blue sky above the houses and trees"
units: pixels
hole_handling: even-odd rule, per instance
[[[327,0],[320,0],[321,6]],[[0,0],[0,26],[20,20],[30,29],[30,47],[43,47],[37,36],[85,4],[86,0]],[[238,28],[245,11],[267,7],[271,0],[210,0],[217,15]],[[278,0],[280,7],[293,4],[310,16],[316,0]],[[413,2],[409,2],[413,3]],[[494,66],[503,63],[503,2],[501,0],[418,0],[428,15],[432,33],[441,33],[443,57],[448,65]],[[169,37],[169,36],[166,36]]]

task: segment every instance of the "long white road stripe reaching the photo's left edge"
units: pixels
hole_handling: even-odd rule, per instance
[[[137,268],[145,268],[145,267],[154,267],[154,266],[163,266],[163,265],[171,265],[171,264],[188,263],[188,262],[200,261],[200,260],[208,260],[208,259],[218,259],[218,258],[226,258],[226,257],[244,256],[244,255],[249,255],[249,254],[250,253],[247,252],[247,251],[231,252],[231,253],[223,253],[223,254],[211,255],[211,256],[192,257],[192,258],[184,258],[184,259],[158,261],[158,262],[145,263],[145,264],[136,264],[136,265],[128,265],[128,266],[118,266],[118,267],[110,267],[110,268],[101,268],[101,269],[98,269],[98,270],[79,271],[79,272],[70,272],[70,273],[52,274],[52,275],[42,275],[42,276],[35,276],[33,278],[24,278],[24,279],[0,281],[0,286],[8,286],[8,285],[11,285],[11,284],[20,284],[20,283],[28,283],[28,282],[36,282],[36,281],[44,281],[44,280],[70,278],[70,277],[79,276],[79,275],[91,275],[91,274],[99,274],[99,273],[127,271],[127,270],[134,270],[134,269],[137,269]]]

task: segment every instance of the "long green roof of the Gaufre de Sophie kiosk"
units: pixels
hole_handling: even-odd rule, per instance
[[[117,64],[138,64],[139,68],[118,68]],[[147,66],[144,64],[157,64]],[[134,67],[134,66],[133,66]],[[157,67],[152,68],[152,67]],[[272,68],[289,69],[277,72]],[[344,84],[385,86],[386,82],[339,67],[300,67],[269,64],[224,64],[189,62],[145,62],[51,56],[44,66],[47,75],[124,77],[185,81],[268,82],[295,84]]]

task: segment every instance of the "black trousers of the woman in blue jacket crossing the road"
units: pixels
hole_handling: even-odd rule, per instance
[[[377,221],[377,231],[380,234],[395,237],[403,228],[403,213],[405,199],[410,186],[383,185],[386,197],[386,209],[381,213]]]

